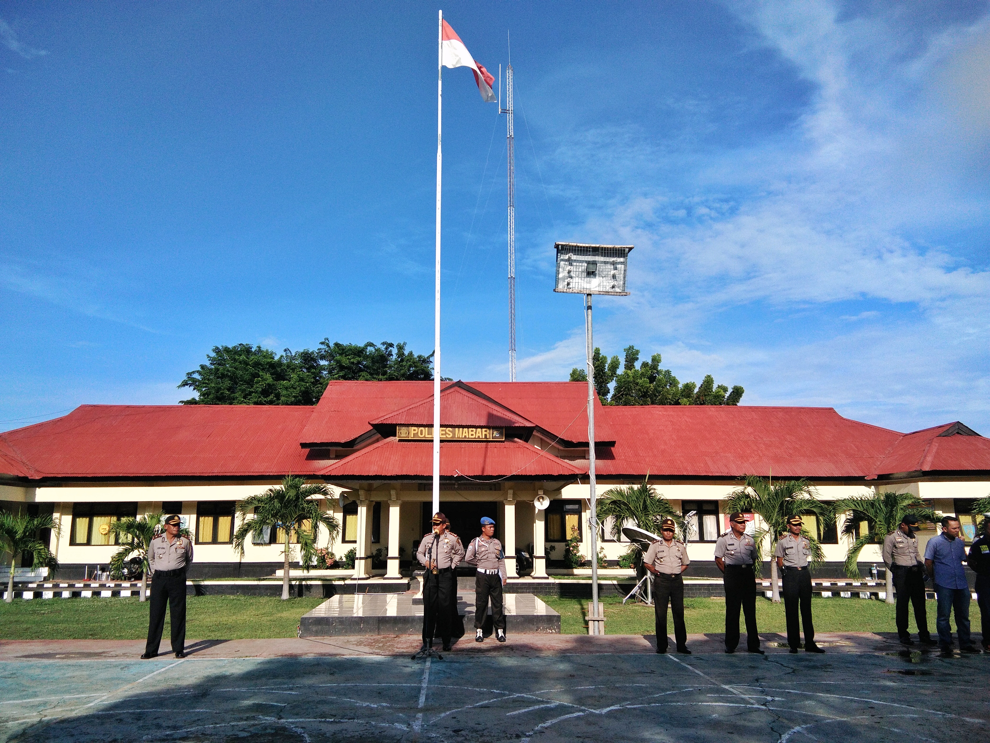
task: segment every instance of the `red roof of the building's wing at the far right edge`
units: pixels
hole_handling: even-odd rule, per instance
[[[956,421],[905,434],[876,464],[875,474],[985,470],[990,462],[990,439],[959,433],[969,431]]]

